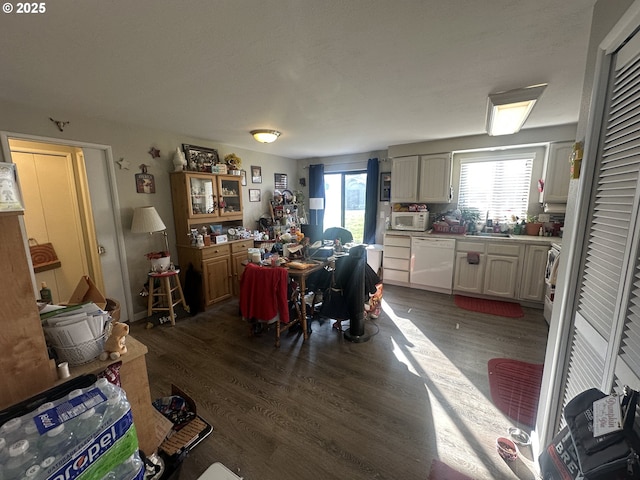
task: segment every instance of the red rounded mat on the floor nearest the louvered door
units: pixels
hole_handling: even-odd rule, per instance
[[[488,368],[495,406],[516,422],[535,426],[543,365],[492,358]]]

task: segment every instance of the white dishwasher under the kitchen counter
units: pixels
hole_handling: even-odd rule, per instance
[[[456,241],[452,238],[412,237],[411,286],[451,293],[455,250]]]

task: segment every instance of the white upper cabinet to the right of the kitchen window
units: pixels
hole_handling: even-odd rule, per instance
[[[567,203],[573,142],[552,143],[544,161],[540,203]]]

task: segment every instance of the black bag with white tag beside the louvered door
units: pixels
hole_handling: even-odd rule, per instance
[[[640,442],[634,430],[638,392],[624,387],[620,405],[622,429],[594,437],[593,402],[607,396],[592,388],[574,397],[564,408],[580,471],[585,480],[640,479]]]

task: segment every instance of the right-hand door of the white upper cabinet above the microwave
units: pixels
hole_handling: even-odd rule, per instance
[[[453,196],[451,187],[451,154],[423,155],[420,157],[420,185],[418,201],[425,203],[449,203]]]

